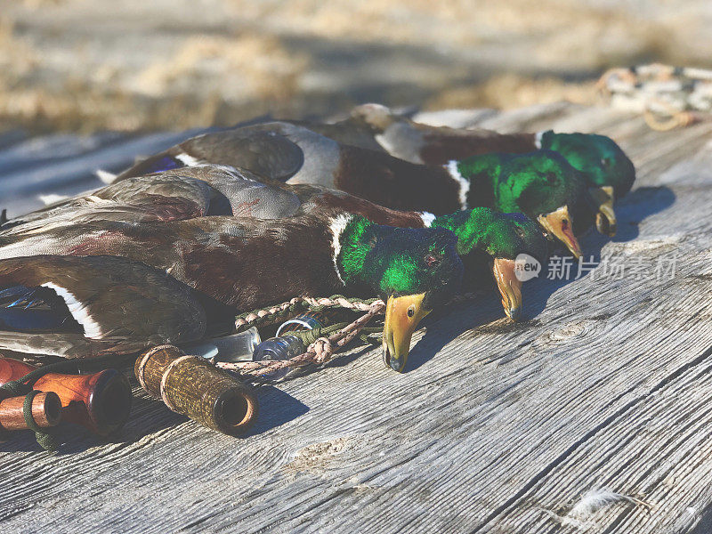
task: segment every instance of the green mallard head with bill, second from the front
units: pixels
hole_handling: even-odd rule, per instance
[[[539,265],[546,261],[547,241],[537,223],[525,214],[502,214],[475,207],[435,218],[431,227],[445,228],[457,236],[457,254],[465,263],[466,283],[481,285],[482,265],[487,265],[497,283],[502,306],[511,320],[522,314],[522,280],[517,260],[530,255]]]

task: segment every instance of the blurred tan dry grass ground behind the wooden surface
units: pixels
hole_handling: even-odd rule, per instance
[[[183,130],[596,100],[604,69],[712,66],[708,0],[2,0],[0,131]]]

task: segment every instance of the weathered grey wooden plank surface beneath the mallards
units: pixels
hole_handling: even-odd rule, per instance
[[[113,441],[68,426],[50,454],[22,434],[0,444],[0,531],[712,532],[712,122],[657,133],[569,104],[447,119],[618,141],[638,180],[619,235],[581,240],[598,267],[525,284],[521,324],[494,295],[451,307],[403,375],[360,350],[263,387],[244,439],[140,390]],[[98,186],[94,167],[177,137],[5,136],[2,204]],[[627,498],[587,514],[592,489]]]

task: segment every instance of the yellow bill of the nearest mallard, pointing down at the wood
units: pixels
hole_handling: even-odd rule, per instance
[[[430,313],[423,306],[425,293],[389,296],[385,306],[384,362],[389,368],[403,372],[408,361],[410,338],[417,324]]]

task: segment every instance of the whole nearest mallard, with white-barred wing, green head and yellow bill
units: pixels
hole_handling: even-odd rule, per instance
[[[134,350],[136,336],[124,333],[132,331],[136,322],[147,323],[136,329],[145,336],[145,346],[172,343],[177,329],[172,315],[164,319],[158,309],[144,311],[140,303],[120,307],[136,295],[153,295],[158,289],[163,300],[180,301],[190,295],[191,303],[210,303],[202,305],[203,314],[198,312],[198,319],[207,318],[205,328],[193,332],[192,337],[198,338],[213,324],[230,324],[236,313],[295,296],[380,295],[386,302],[384,361],[402,372],[417,324],[457,293],[463,275],[453,232],[394,228],[352,214],[278,220],[221,215],[146,223],[101,220],[51,226],[30,235],[3,234],[2,242],[0,272],[4,265],[10,267],[6,276],[0,276],[0,292],[10,296],[0,310],[0,325],[4,321],[3,328],[20,330],[24,323],[16,317],[18,312],[31,315],[39,305],[28,305],[26,310],[23,304],[28,299],[33,303],[36,291],[49,287],[53,295],[37,296],[40,303],[59,297],[64,313],[57,320],[64,324],[71,319],[84,338],[111,344],[103,351],[125,346]],[[104,260],[108,263],[101,265],[85,260],[93,256],[118,260]],[[64,260],[58,259],[64,257],[76,258],[67,271],[63,271]],[[83,271],[83,260],[98,272]],[[136,271],[137,279],[123,279],[119,271],[125,269],[125,262],[145,268]],[[56,273],[50,273],[53,265]],[[165,287],[150,287],[157,277]],[[180,291],[172,289],[177,285]],[[116,303],[105,308],[111,295]],[[52,309],[57,309],[56,304]],[[4,320],[5,316],[13,320]],[[36,330],[20,334],[20,340],[27,341]],[[17,340],[17,334],[12,339]],[[69,353],[64,345],[54,346],[52,339],[46,344],[35,339],[28,347],[44,354]],[[0,350],[4,346],[0,336]],[[71,354],[82,354],[81,345],[77,347]]]

